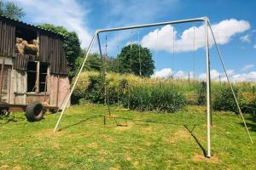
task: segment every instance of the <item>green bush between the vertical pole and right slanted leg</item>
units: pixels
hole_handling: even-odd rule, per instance
[[[234,88],[237,96],[237,89]],[[230,87],[220,87],[214,96],[212,109],[216,111],[234,111],[237,112],[236,100],[232,94]]]

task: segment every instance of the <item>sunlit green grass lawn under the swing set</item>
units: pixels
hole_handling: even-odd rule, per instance
[[[2,118],[0,169],[256,169],[256,122],[250,116],[254,144],[239,116],[214,112],[213,156],[207,159],[205,108],[174,114],[111,110],[120,118],[104,125],[106,107],[75,105],[56,134],[59,114],[33,123],[18,113]]]

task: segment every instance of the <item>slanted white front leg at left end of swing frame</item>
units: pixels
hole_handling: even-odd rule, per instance
[[[90,45],[89,45],[89,48],[87,49],[87,52],[86,52],[86,54],[84,55],[83,63],[82,63],[82,65],[81,65],[81,67],[80,67],[78,76],[75,78],[75,81],[74,81],[74,83],[73,83],[73,87],[71,88],[70,93],[68,94],[68,97],[67,97],[67,100],[66,100],[66,102],[65,102],[64,108],[63,108],[63,110],[61,111],[61,115],[59,116],[59,119],[58,119],[58,121],[57,121],[57,123],[56,123],[56,125],[55,125],[54,133],[56,132],[56,130],[57,130],[57,128],[58,128],[58,126],[59,126],[59,124],[60,124],[60,122],[61,122],[61,117],[63,116],[64,111],[65,111],[66,108],[67,108],[68,101],[69,101],[69,99],[71,98],[71,95],[73,94],[73,90],[74,90],[74,88],[75,88],[75,86],[76,86],[76,84],[77,84],[77,82],[78,82],[78,80],[79,80],[79,76],[80,76],[81,72],[83,71],[83,68],[84,68],[86,59],[88,58],[88,56],[89,56],[89,54],[90,54],[90,49],[91,49],[91,47],[92,47],[92,45],[93,45],[93,42],[94,42],[95,39],[96,39],[96,35],[97,35],[97,31],[96,31],[96,33],[94,34],[94,36],[92,37],[92,40],[91,40]]]

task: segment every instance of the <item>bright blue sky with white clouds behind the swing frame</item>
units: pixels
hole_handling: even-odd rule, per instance
[[[87,48],[96,29],[137,24],[182,20],[207,16],[220,44],[231,80],[256,81],[256,21],[255,1],[193,1],[193,0],[14,0],[26,12],[24,21],[32,24],[52,23],[76,31]],[[193,39],[195,26],[195,55]],[[173,34],[174,30],[174,34]],[[108,33],[108,53],[115,56],[118,47],[138,43],[138,30]],[[139,43],[150,48],[155,60],[155,77],[204,78],[206,60],[204,32],[201,23],[154,27],[139,30]],[[104,42],[105,35],[102,35]],[[174,54],[172,45],[174,41]],[[212,40],[210,37],[210,45]],[[96,48],[94,48],[96,50]],[[223,70],[216,49],[210,49],[212,79]],[[174,62],[173,62],[174,61]]]

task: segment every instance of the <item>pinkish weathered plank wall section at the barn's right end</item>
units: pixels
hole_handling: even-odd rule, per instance
[[[59,86],[59,88],[58,88]],[[69,92],[69,79],[63,75],[50,75],[50,105],[61,106],[65,99],[67,92]],[[69,106],[70,104],[68,104]],[[63,105],[62,105],[63,106]],[[61,108],[62,109],[62,108]]]

